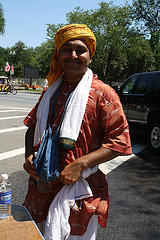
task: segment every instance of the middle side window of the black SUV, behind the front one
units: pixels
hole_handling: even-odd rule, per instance
[[[134,93],[145,94],[153,84],[154,74],[141,75],[135,87]]]

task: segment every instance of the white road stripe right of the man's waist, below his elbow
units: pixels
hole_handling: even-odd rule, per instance
[[[108,174],[110,173],[112,170],[114,170],[115,168],[117,168],[119,165],[121,165],[122,163],[126,162],[127,160],[129,160],[130,158],[134,157],[138,152],[142,151],[146,146],[141,143],[141,144],[135,144],[132,147],[132,155],[127,155],[127,156],[118,156],[114,159],[112,159],[109,162],[105,162],[100,164],[99,169],[104,173],[104,174]]]

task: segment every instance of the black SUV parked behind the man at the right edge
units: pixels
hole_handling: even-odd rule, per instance
[[[130,76],[118,90],[131,131],[145,134],[160,153],[160,71]]]

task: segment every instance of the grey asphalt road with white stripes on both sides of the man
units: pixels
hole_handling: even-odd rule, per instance
[[[9,174],[16,204],[23,203],[28,184],[23,119],[39,96],[0,93],[0,174]],[[131,140],[133,147],[143,145],[141,151],[106,171],[110,211],[107,228],[98,228],[97,240],[160,240],[160,157],[150,153],[142,137],[131,135]]]

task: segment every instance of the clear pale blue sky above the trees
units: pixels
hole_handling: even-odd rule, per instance
[[[11,48],[22,41],[27,47],[38,47],[46,41],[46,24],[66,23],[66,14],[75,7],[95,10],[100,2],[102,0],[0,0],[6,20],[5,33],[0,35],[0,46]],[[125,2],[113,0],[116,6],[124,6]],[[127,2],[131,4],[132,0]]]

